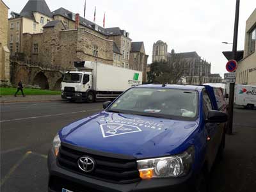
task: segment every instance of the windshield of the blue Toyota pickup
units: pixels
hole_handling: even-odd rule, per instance
[[[195,119],[198,93],[169,88],[132,88],[121,95],[108,111],[177,120]]]

